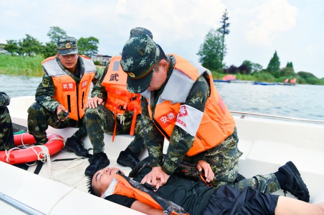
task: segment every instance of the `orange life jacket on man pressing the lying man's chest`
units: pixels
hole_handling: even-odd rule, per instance
[[[175,57],[176,62],[158,99],[154,112],[155,125],[168,140],[175,125],[195,136],[192,147],[186,153],[188,156],[192,156],[224,141],[234,132],[235,121],[213,85],[211,72],[180,56],[170,55]],[[190,106],[181,105],[181,103],[185,102],[192,85],[204,72],[209,77],[210,96],[202,113]],[[150,92],[147,90],[142,93],[142,96],[148,99],[148,110],[152,119]]]

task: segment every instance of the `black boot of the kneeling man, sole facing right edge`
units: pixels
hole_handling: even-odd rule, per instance
[[[281,189],[284,192],[288,191],[299,200],[309,202],[310,193],[295,164],[292,161],[288,161],[285,165],[279,167],[279,171],[286,175],[286,183],[280,185]]]

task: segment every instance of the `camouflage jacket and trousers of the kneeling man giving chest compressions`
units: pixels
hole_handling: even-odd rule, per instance
[[[157,99],[161,95],[175,65],[175,58],[173,56],[167,57],[171,62],[171,66],[167,72],[167,79],[162,87],[159,90],[151,92],[151,99],[155,100],[154,104],[157,103]],[[209,81],[202,74],[192,86],[184,104],[203,112],[209,93]],[[236,128],[234,133],[222,143],[197,155],[188,157],[186,156],[186,152],[192,146],[194,137],[180,127],[175,126],[169,140],[166,156],[163,159],[162,148],[164,137],[150,118],[147,99],[142,99],[141,104],[144,137],[148,146],[152,166],[161,166],[166,174],[171,175],[183,159],[195,164],[198,160],[205,160],[210,164],[215,173],[214,180],[211,182],[215,188],[226,184],[243,190],[245,187],[251,186],[264,193],[273,193],[280,189],[279,182],[274,174],[257,175],[253,178],[234,183],[238,174],[238,159],[242,155],[242,152],[237,148],[238,137]],[[155,105],[151,105],[152,115],[154,115],[155,107]]]

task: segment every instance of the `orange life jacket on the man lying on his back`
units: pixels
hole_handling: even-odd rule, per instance
[[[174,214],[186,214],[183,208],[180,206],[163,199],[162,197],[158,197],[158,195],[154,191],[149,191],[151,195],[148,192],[148,189],[145,188],[143,185],[141,185],[138,182],[135,182],[128,177],[125,177],[120,174],[116,174],[115,178],[118,180],[118,183],[115,186],[115,189],[112,194],[119,194],[131,198],[135,198],[136,200],[146,203],[156,209],[163,209],[164,212],[167,212],[167,214],[170,214],[171,212]],[[132,182],[133,184],[132,184]],[[137,184],[137,185],[134,185]],[[138,187],[135,187],[138,186]],[[158,198],[154,198],[158,197]],[[175,212],[175,211],[176,212]]]

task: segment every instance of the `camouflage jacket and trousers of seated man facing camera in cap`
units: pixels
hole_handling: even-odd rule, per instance
[[[57,64],[62,68],[64,72],[70,75],[77,84],[79,84],[82,75],[84,73],[84,64],[79,56],[78,63],[76,66],[76,72],[73,74],[68,71],[60,62],[56,56]],[[101,75],[99,72],[96,72],[95,76],[92,79],[92,83],[95,84]],[[44,144],[47,142],[46,130],[48,126],[57,129],[63,129],[67,127],[80,128],[78,131],[73,134],[75,138],[80,140],[81,138],[87,135],[85,117],[83,116],[80,120],[76,121],[70,118],[67,118],[64,122],[57,122],[58,118],[56,115],[56,108],[58,105],[61,105],[53,96],[55,94],[54,83],[51,76],[44,72],[43,80],[36,89],[35,100],[28,108],[28,132],[32,134],[37,143]]]

